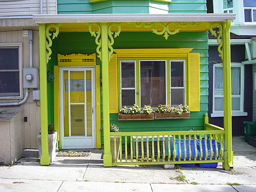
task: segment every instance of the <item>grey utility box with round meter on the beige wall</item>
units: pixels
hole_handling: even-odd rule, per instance
[[[23,88],[39,87],[39,70],[38,68],[23,69]]]

